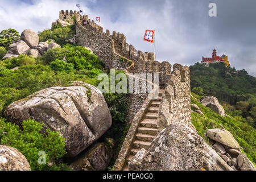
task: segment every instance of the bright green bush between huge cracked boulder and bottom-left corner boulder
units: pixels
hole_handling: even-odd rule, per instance
[[[0,119],[0,143],[22,152],[30,163],[31,170],[49,170],[49,163],[60,159],[67,152],[64,148],[64,138],[59,133],[49,129],[46,130],[46,134],[40,133],[43,125],[28,119],[23,121],[23,130],[20,130],[18,126]],[[46,164],[39,165],[39,151],[46,153]]]

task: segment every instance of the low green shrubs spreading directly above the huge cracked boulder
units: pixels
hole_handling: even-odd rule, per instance
[[[14,66],[10,66],[14,67]],[[97,72],[97,73],[96,73]],[[83,73],[88,73],[84,75]],[[100,70],[91,71],[54,71],[48,65],[25,65],[15,71],[6,67],[0,67],[0,115],[5,108],[16,100],[44,88],[52,86],[68,86],[71,81],[84,81],[88,84],[97,85],[97,77]]]

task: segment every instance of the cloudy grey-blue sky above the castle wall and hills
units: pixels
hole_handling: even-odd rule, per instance
[[[208,15],[212,2],[217,17]],[[228,55],[232,67],[256,76],[255,0],[0,0],[0,31],[43,31],[59,10],[77,10],[76,3],[90,19],[101,16],[104,30],[125,34],[127,43],[143,52],[153,52],[143,35],[155,29],[156,60],[192,65],[211,57],[214,48]]]

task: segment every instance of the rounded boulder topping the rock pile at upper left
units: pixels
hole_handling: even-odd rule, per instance
[[[30,48],[35,48],[39,43],[39,36],[34,31],[27,29],[20,35],[20,40],[27,43]]]

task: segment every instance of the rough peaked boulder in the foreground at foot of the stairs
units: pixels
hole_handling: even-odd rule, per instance
[[[139,168],[142,171],[201,171],[203,148],[203,138],[190,127],[171,123],[156,135]]]

